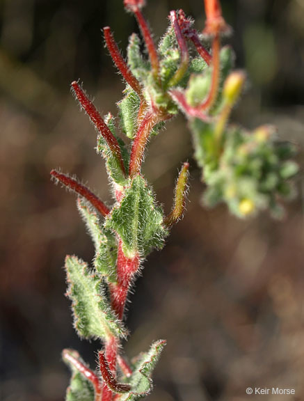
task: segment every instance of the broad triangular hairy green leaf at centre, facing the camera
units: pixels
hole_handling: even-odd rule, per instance
[[[106,228],[118,233],[122,249],[129,258],[147,255],[153,248],[161,249],[168,230],[163,227],[163,212],[154,201],[147,182],[136,176],[121,203],[106,217]]]

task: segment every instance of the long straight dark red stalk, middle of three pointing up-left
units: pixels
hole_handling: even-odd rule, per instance
[[[79,84],[74,81],[72,82],[72,88],[74,90],[74,93],[83,107],[85,109],[86,113],[90,117],[90,120],[92,123],[95,125],[95,128],[104,137],[104,140],[108,144],[111,152],[113,155],[116,157],[120,164],[120,168],[122,169],[122,172],[125,174],[125,166],[122,161],[122,155],[120,151],[120,146],[118,144],[117,139],[115,136],[112,134],[111,130],[109,127],[106,125],[104,122],[104,119],[100,114],[98,113],[97,109],[95,108],[94,104],[90,101],[86,93],[83,91],[83,89],[79,86]]]

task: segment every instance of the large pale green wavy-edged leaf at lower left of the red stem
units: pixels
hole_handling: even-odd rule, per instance
[[[76,256],[65,258],[67,297],[72,300],[74,327],[81,338],[109,339],[125,337],[125,329],[117,320],[106,299],[100,278]]]

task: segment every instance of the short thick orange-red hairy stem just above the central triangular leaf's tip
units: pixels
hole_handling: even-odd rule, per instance
[[[145,152],[145,146],[147,140],[151,134],[152,128],[158,122],[159,118],[154,113],[147,113],[145,118],[138,128],[138,132],[132,144],[130,164],[129,164],[129,175],[139,174],[141,171],[141,163],[143,162],[143,154]]]

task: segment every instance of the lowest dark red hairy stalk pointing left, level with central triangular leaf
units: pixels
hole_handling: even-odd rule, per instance
[[[72,191],[86,198],[91,205],[95,207],[102,214],[102,216],[106,217],[106,214],[110,212],[109,208],[104,205],[102,201],[95,194],[93,194],[90,189],[85,187],[83,184],[80,184],[74,178],[69,177],[67,174],[58,173],[56,170],[51,171],[51,175],[56,178],[56,180],[60,181],[65,187],[72,189]]]

